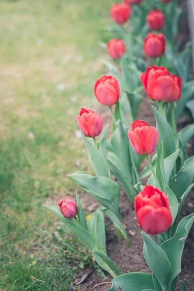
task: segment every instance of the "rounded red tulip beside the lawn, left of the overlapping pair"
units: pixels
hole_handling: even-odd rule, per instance
[[[103,76],[96,81],[94,93],[102,105],[112,106],[120,95],[119,83],[114,77]]]

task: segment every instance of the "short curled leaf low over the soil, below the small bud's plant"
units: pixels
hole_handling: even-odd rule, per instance
[[[121,271],[119,270],[119,268],[117,267],[117,265],[113,262],[112,259],[110,259],[109,257],[107,257],[104,253],[102,253],[99,250],[92,250],[92,252],[94,254],[96,254],[104,263],[104,266],[106,266],[106,271],[109,272],[110,275],[112,275],[112,277],[116,277],[121,275]]]

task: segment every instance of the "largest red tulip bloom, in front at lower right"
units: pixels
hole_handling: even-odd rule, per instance
[[[168,196],[151,185],[135,197],[135,211],[139,225],[148,234],[162,233],[172,224]]]

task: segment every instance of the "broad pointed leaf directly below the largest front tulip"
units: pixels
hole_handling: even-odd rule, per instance
[[[162,289],[167,290],[168,278],[171,273],[170,261],[160,245],[154,242],[148,234],[142,232],[142,236],[144,239],[144,257],[146,263],[156,276]]]

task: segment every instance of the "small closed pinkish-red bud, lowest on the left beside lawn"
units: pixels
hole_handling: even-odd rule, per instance
[[[69,197],[67,197],[65,200],[59,201],[58,205],[66,218],[73,218],[78,213],[77,203]]]

